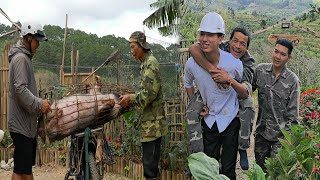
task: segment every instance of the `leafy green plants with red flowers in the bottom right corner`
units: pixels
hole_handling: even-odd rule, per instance
[[[266,160],[267,179],[315,180],[320,178],[320,90],[304,89],[300,97],[301,125],[282,131],[282,147]],[[263,175],[249,170],[249,178]]]

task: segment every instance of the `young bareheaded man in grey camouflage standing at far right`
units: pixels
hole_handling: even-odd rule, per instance
[[[300,81],[286,64],[293,46],[288,39],[279,39],[272,53],[272,63],[262,63],[253,77],[253,90],[258,89],[259,112],[255,131],[255,159],[265,170],[267,157],[275,157],[283,138],[280,129],[290,130],[298,123]]]

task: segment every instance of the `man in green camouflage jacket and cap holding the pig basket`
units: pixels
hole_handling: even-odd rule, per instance
[[[120,96],[120,105],[124,108],[139,108],[144,177],[147,180],[156,179],[159,172],[161,137],[168,133],[162,107],[160,66],[157,59],[150,54],[150,44],[146,42],[143,32],[133,32],[129,43],[133,57],[141,62],[141,81],[135,94]]]

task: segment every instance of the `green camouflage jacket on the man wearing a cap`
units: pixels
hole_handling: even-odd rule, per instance
[[[162,107],[159,62],[149,54],[140,65],[140,87],[130,95],[132,105],[139,108],[141,142],[153,141],[168,133],[168,123]]]

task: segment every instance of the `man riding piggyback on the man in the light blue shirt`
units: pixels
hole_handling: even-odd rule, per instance
[[[250,33],[246,28],[236,27],[231,32],[230,41],[220,44],[220,49],[230,52],[235,58],[238,58],[242,61],[243,77],[241,84],[246,87],[249,95],[247,98],[238,98],[238,117],[241,124],[238,142],[240,165],[244,170],[249,168],[246,149],[250,147],[250,135],[253,118],[255,116],[251,86],[254,72],[254,59],[248,52],[250,40]],[[206,61],[198,44],[191,45],[189,50],[191,55],[195,58],[196,62],[199,63],[200,66],[204,67],[208,71],[214,72],[216,74],[215,76],[219,76],[220,72],[217,72],[215,67],[206,63],[202,64]],[[203,106],[201,95],[198,92],[190,100],[190,103],[187,106],[186,116],[188,120],[188,132],[190,132],[188,133],[189,153],[203,151],[202,130],[200,126],[200,121],[202,118],[199,117],[199,112],[201,112]],[[197,121],[195,121],[195,119],[197,119]],[[194,137],[195,135],[197,135],[197,138]]]

